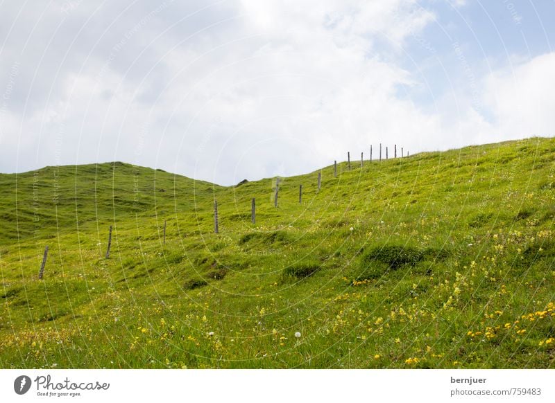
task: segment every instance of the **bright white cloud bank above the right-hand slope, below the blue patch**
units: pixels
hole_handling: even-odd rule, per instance
[[[555,134],[555,53],[486,73],[436,102],[441,125],[427,141],[438,150]],[[472,88],[471,88],[472,87]],[[474,89],[478,93],[473,93]],[[433,149],[434,147],[426,147]]]

